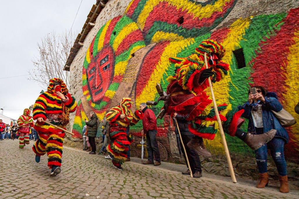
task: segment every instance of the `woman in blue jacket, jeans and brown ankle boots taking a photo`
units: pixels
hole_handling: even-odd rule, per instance
[[[289,141],[289,135],[272,113],[272,111],[279,112],[283,107],[279,103],[276,93],[267,92],[267,90],[261,86],[254,87],[257,93],[253,95],[248,91],[248,101],[240,107],[244,109],[242,117],[249,120],[248,132],[263,134],[271,129],[276,130],[276,134],[271,141],[255,150],[257,167],[260,173],[260,182],[257,184],[257,188],[264,188],[269,182],[267,172],[267,149],[269,148],[279,173],[279,191],[288,193],[288,177],[283,150],[284,145]]]

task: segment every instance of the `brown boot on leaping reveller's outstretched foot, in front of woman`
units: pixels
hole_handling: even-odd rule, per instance
[[[270,140],[274,138],[276,133],[275,129],[271,129],[270,131],[260,134],[260,135],[253,135],[251,133],[247,133],[244,142],[252,149],[257,150]]]

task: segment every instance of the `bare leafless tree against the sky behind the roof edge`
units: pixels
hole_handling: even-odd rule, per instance
[[[33,68],[29,71],[30,80],[37,81],[42,87],[47,87],[51,78],[61,78],[65,84],[69,85],[69,72],[64,71],[71,47],[74,45],[76,33],[65,30],[64,33],[48,33],[37,43],[38,56],[34,56]]]

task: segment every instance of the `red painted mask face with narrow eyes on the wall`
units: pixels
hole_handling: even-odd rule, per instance
[[[103,99],[114,75],[114,53],[110,46],[104,47],[91,60],[86,69],[86,75],[91,100],[94,103],[98,103]]]

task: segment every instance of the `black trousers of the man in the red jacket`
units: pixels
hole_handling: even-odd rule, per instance
[[[155,161],[161,162],[160,150],[156,140],[156,134],[157,134],[156,130],[149,130],[149,132],[147,132],[145,135],[147,138],[148,160],[151,162],[154,161],[154,155],[155,155]]]

